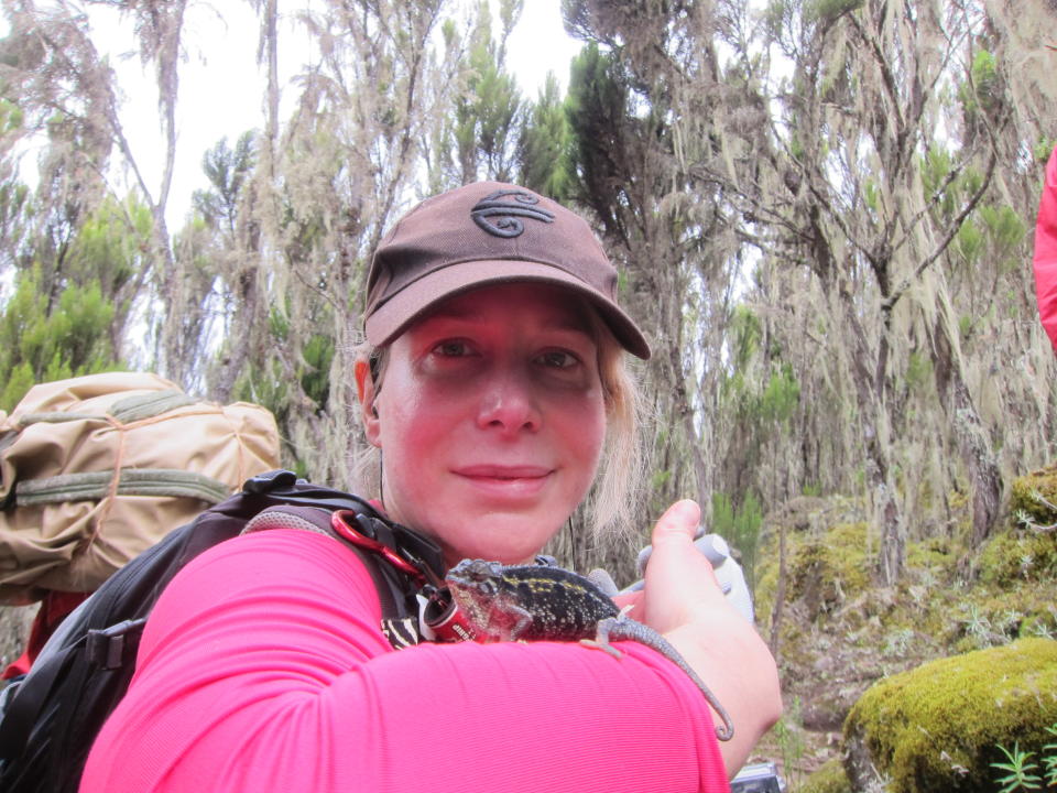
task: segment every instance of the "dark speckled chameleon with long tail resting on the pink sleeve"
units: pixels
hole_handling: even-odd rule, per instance
[[[690,676],[722,719],[720,740],[734,735],[730,716],[679,651],[653,628],[617,608],[584,576],[562,567],[462,560],[445,583],[479,641],[579,641],[620,658],[611,641],[653,648]],[[592,638],[593,637],[593,638]]]

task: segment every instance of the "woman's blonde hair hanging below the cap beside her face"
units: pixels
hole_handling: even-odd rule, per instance
[[[586,304],[585,304],[586,305]],[[609,326],[592,308],[591,332],[598,347],[598,372],[606,403],[606,442],[595,475],[595,484],[581,508],[592,533],[620,532],[629,529],[642,499],[642,464],[645,446],[642,442],[641,389],[629,366],[629,356],[613,336]],[[363,341],[356,349],[356,360],[371,363],[372,377],[378,376],[375,392],[384,380],[388,348],[375,348]],[[368,443],[358,444],[353,452],[352,475],[356,491],[364,496],[381,492],[381,452]]]

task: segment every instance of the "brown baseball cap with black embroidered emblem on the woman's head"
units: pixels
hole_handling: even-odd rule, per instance
[[[390,230],[367,280],[367,339],[385,345],[439,301],[515,281],[582,295],[624,349],[650,357],[642,332],[617,305],[617,269],[587,222],[502,182],[476,182],[427,198]]]

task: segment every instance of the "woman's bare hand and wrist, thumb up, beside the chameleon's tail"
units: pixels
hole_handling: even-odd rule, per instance
[[[721,741],[720,751],[732,776],[782,714],[782,694],[767,645],[723,597],[712,566],[694,547],[700,517],[697,503],[686,500],[657,521],[631,616],[663,633],[727,708],[734,737]]]

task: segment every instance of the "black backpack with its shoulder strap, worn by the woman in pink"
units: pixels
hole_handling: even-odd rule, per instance
[[[7,698],[0,720],[0,787],[11,793],[74,791],[91,742],[132,676],[146,616],[172,577],[203,551],[239,534],[277,507],[317,513],[350,510],[369,518],[372,537],[402,556],[442,569],[439,548],[427,537],[386,521],[363,499],[310,485],[291,471],[248,480],[242,492],[115,573],[59,626],[29,676]],[[379,554],[353,546],[374,580],[382,630],[393,647],[417,641],[417,585]]]

